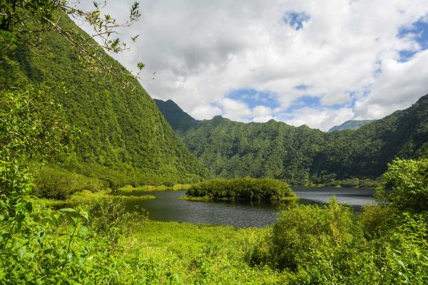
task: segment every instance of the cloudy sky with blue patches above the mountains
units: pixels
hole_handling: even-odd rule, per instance
[[[428,93],[428,0],[139,2],[141,19],[123,30],[138,41],[113,57],[128,70],[145,63],[148,93],[199,120],[328,130]],[[132,3],[103,11],[125,21]]]

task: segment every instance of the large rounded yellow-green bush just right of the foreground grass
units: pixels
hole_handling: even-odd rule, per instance
[[[282,212],[267,239],[268,250],[262,244],[252,261],[295,270],[310,261],[314,251],[342,258],[342,252],[335,249],[349,247],[359,235],[352,210],[335,199],[327,206],[296,204]]]

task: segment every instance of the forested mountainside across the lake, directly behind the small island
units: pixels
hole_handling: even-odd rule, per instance
[[[312,157],[325,140],[325,133],[275,120],[238,123],[216,116],[201,121],[183,140],[215,175],[275,177],[307,184]]]

